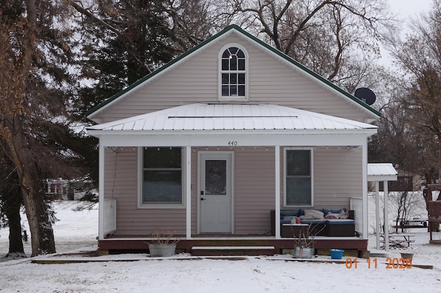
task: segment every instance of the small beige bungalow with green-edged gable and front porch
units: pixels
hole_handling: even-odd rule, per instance
[[[356,234],[317,237],[316,248],[367,250],[367,140],[379,117],[230,25],[89,111],[99,249],[146,250],[163,227],[187,252],[279,252],[292,248],[281,211],[345,208]]]

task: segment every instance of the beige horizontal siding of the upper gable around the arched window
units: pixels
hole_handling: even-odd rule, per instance
[[[358,121],[367,118],[329,89],[237,36],[214,43],[167,74],[155,76],[145,87],[139,87],[96,118],[109,122],[194,102],[218,102],[218,53],[227,43],[239,43],[249,54],[248,102],[295,107]]]

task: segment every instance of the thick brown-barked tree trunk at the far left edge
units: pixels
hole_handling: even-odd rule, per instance
[[[40,188],[42,179],[39,176],[37,162],[30,152],[32,146],[26,136],[29,129],[23,126],[28,115],[34,112],[29,109],[32,105],[26,101],[26,97],[35,94],[32,87],[28,86],[32,81],[32,59],[38,57],[40,21],[37,19],[36,1],[25,0],[24,3],[25,20],[15,18],[6,24],[14,25],[14,21],[17,21],[16,27],[21,30],[16,34],[1,34],[2,47],[7,50],[8,56],[15,58],[1,58],[3,70],[6,70],[3,75],[6,74],[8,80],[1,81],[0,87],[5,89],[1,91],[0,100],[0,138],[8,157],[14,164],[14,171],[19,180],[30,228],[31,257],[34,257],[38,254],[54,253],[55,243],[48,206],[45,203],[45,193]],[[3,30],[8,30],[8,27],[3,27]],[[16,38],[15,41],[10,39],[12,35]],[[13,45],[17,42],[21,44],[19,50]]]

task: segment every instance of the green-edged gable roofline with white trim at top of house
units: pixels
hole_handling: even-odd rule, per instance
[[[370,116],[372,116],[372,118],[378,118],[381,116],[381,113],[379,111],[377,111],[376,109],[373,109],[371,106],[367,105],[365,102],[362,102],[362,100],[349,94],[347,91],[345,91],[344,89],[341,89],[337,85],[334,85],[334,83],[331,83],[326,78],[323,78],[319,74],[316,74],[316,72],[313,72],[308,67],[305,67],[304,65],[298,63],[293,58],[287,56],[283,52],[280,52],[276,48],[271,47],[270,45],[261,41],[260,39],[257,39],[252,34],[245,32],[245,30],[238,27],[238,25],[229,25],[229,26],[227,26],[227,28],[225,28],[222,31],[218,32],[217,34],[214,34],[213,36],[211,36],[209,39],[196,45],[191,50],[188,50],[187,52],[174,58],[172,61],[170,61],[169,63],[166,63],[162,67],[156,69],[154,72],[147,74],[146,76],[144,76],[140,80],[136,81],[136,83],[133,83],[129,87],[119,91],[117,94],[114,94],[114,96],[108,98],[107,100],[102,102],[100,105],[96,105],[95,107],[92,107],[92,109],[90,109],[86,113],[87,118],[89,118],[89,119],[94,118],[94,116],[96,116],[98,113],[100,113],[101,111],[104,111],[105,109],[107,109],[107,107],[110,107],[111,105],[113,105],[114,102],[118,102],[119,100],[121,100],[122,98],[127,96],[127,94],[130,94],[131,91],[136,90],[138,87],[140,87],[141,85],[146,83],[148,80],[152,80],[153,78],[156,78],[156,77],[160,76],[161,74],[164,74],[164,73],[168,72],[169,70],[172,70],[174,67],[185,62],[185,60],[187,58],[189,58],[190,56],[195,54],[198,50],[202,50],[203,47],[209,45],[214,40],[220,39],[221,37],[226,37],[227,35],[229,35],[231,33],[239,34],[240,36],[245,37],[246,39],[248,39],[252,43],[256,43],[257,45],[260,45],[260,47],[265,48],[265,50],[267,50],[267,52],[270,52],[271,54],[273,54],[273,56],[277,56],[282,61],[285,61],[285,63],[287,63],[288,65],[291,65],[291,67],[293,67],[294,69],[297,69],[298,72],[304,74],[305,76],[310,76],[311,78],[315,79],[318,83],[322,83],[322,85],[325,85],[329,89],[336,91],[342,98],[345,98],[346,100],[351,102],[352,105],[356,105],[356,107],[358,107],[362,111],[369,113]]]

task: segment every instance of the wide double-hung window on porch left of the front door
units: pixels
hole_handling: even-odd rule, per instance
[[[146,147],[142,157],[141,206],[183,206],[181,147]]]

